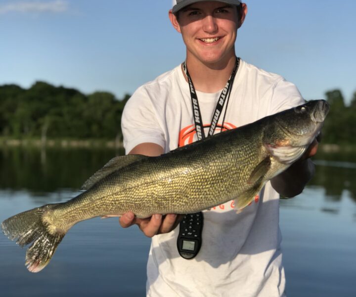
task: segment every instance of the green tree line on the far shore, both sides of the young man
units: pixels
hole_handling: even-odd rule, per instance
[[[36,82],[29,89],[0,86],[0,136],[11,138],[115,139],[121,137],[121,115],[130,95],[109,92],[86,95],[76,89]],[[323,143],[356,144],[356,92],[350,105],[340,90],[325,93],[330,112]]]

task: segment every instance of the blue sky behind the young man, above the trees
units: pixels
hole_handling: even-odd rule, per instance
[[[242,59],[295,83],[305,99],[356,91],[356,1],[246,0]],[[0,0],[0,85],[42,80],[132,94],[183,61],[172,0]]]

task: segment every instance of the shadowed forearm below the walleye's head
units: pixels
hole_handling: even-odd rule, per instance
[[[280,195],[292,198],[302,193],[314,175],[315,166],[311,159],[292,164],[286,171],[271,179],[271,185]]]

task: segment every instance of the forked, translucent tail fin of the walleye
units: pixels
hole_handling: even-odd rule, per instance
[[[27,249],[27,269],[39,272],[48,264],[65,233],[50,230],[48,223],[43,220],[44,213],[58,204],[47,204],[16,214],[1,224],[3,233],[10,239],[17,238],[16,244],[24,247],[33,242]]]

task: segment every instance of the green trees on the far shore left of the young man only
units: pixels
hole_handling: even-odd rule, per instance
[[[121,135],[121,100],[108,92],[78,90],[36,82],[29,89],[0,86],[0,135],[13,138],[115,139]]]

